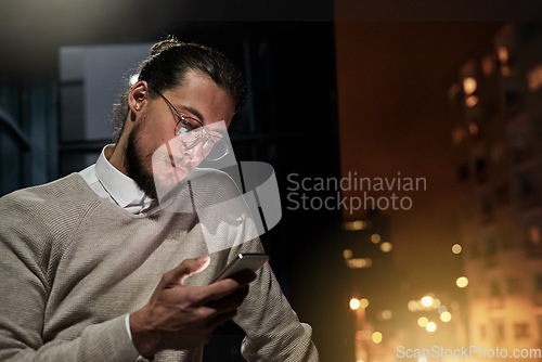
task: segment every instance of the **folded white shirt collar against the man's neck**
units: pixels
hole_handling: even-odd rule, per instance
[[[114,147],[114,144],[103,147],[95,166],[98,180],[115,203],[122,208],[126,208],[128,205],[139,204],[143,206],[149,204],[151,198],[145,195],[136,181],[120,172],[108,161],[106,154],[111,156]]]

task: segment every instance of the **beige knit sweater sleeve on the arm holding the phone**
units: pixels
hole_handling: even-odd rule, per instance
[[[136,361],[124,315],[89,325],[78,336],[44,340],[55,273],[49,267],[52,235],[25,197],[34,196],[0,199],[0,361]]]

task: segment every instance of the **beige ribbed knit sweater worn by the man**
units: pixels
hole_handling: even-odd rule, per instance
[[[217,177],[215,192],[233,190]],[[243,224],[225,237],[243,237]],[[258,240],[211,255],[186,284],[204,285]],[[0,198],[0,361],[136,361],[125,315],[144,306],[162,274],[207,254],[195,214],[132,215],[101,199],[82,178]],[[318,361],[300,323],[266,266],[234,319],[248,361]],[[199,361],[202,349],[163,351],[155,361]]]

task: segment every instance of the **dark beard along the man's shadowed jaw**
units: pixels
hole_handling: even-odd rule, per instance
[[[125,169],[128,177],[136,181],[136,184],[145,193],[146,196],[156,199],[156,186],[152,172],[149,172],[144,165],[143,159],[145,156],[141,155],[138,150],[138,133],[140,131],[140,124],[128,135],[128,144],[125,150]]]

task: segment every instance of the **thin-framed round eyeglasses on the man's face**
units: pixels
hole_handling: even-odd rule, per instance
[[[202,158],[209,160],[219,160],[230,153],[228,144],[222,140],[222,137],[209,133],[199,120],[184,116],[156,88],[152,87],[152,89],[162,96],[179,118],[175,126],[175,135],[184,145],[186,151],[197,151],[197,148],[201,148]],[[197,147],[201,144],[203,146]]]

